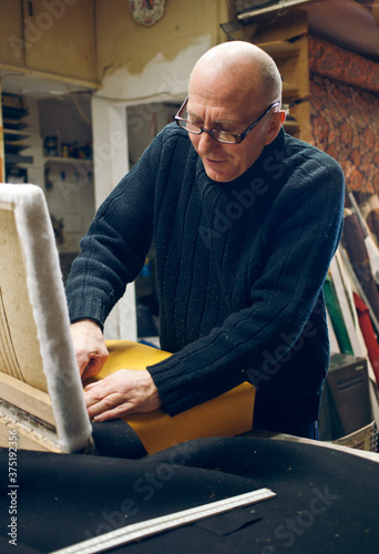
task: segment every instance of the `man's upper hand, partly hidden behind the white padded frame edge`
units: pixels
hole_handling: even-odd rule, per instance
[[[109,351],[99,325],[92,319],[82,319],[71,325],[71,336],[82,381],[102,370]]]

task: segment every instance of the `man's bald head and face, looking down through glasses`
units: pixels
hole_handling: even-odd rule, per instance
[[[228,183],[252,167],[281,129],[286,113],[280,98],[277,66],[250,42],[225,42],[202,55],[182,110],[201,130],[188,135],[209,178]],[[217,141],[217,131],[240,141]]]

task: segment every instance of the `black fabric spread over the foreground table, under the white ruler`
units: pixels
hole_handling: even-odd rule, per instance
[[[12,489],[3,449],[2,553],[51,552],[262,488],[277,496],[110,552],[362,554],[379,544],[379,463],[318,445],[199,439],[140,460],[19,451],[18,485],[14,548],[7,535]]]

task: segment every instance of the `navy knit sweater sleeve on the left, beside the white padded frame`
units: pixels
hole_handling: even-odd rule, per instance
[[[154,183],[161,136],[100,206],[66,283],[71,322],[89,318],[102,328],[127,283],[139,275],[152,240]]]

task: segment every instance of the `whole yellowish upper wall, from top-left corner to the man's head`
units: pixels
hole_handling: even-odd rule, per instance
[[[145,27],[126,0],[0,0],[0,19],[3,68],[130,99],[182,93],[195,60],[225,40],[219,23],[228,16],[225,0],[167,0],[162,19]]]

